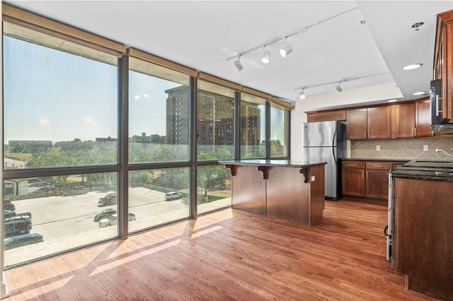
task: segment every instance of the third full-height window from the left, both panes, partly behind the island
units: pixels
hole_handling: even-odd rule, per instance
[[[234,90],[198,81],[197,213],[231,206],[230,175],[217,160],[234,158]]]

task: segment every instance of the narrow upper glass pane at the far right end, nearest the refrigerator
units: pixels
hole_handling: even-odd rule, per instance
[[[270,156],[288,155],[287,110],[270,107]]]

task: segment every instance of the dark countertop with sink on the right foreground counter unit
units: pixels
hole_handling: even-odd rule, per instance
[[[453,182],[452,160],[411,160],[391,170],[391,175],[401,179]]]

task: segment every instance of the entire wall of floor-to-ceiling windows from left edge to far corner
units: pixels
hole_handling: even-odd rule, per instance
[[[5,266],[225,208],[218,160],[287,156],[270,95],[41,21],[4,22]]]

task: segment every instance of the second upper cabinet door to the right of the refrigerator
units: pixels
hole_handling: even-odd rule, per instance
[[[367,110],[368,138],[391,138],[390,107],[369,107]]]

